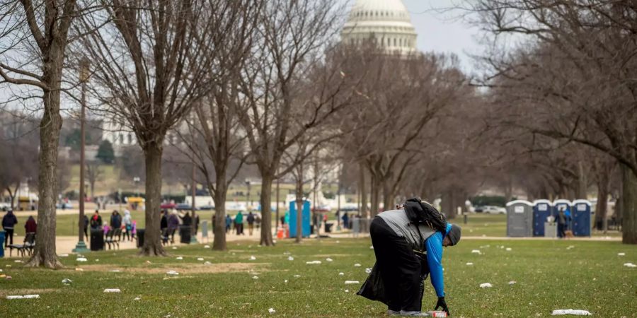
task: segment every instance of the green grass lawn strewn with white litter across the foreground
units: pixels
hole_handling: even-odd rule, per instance
[[[162,258],[91,252],[86,263],[74,255],[62,258],[67,269],[59,271],[24,269],[14,259],[0,259],[3,274],[12,276],[0,281],[0,312],[4,317],[384,317],[384,305],[355,295],[360,284],[345,285],[365,281],[365,268],[374,264],[369,245],[369,238],[313,239],[302,245],[285,240],[275,247],[232,242],[229,252],[192,245],[168,249],[170,257]],[[306,264],[313,260],[322,264]],[[569,308],[597,317],[636,317],[637,269],[623,266],[629,261],[637,263],[637,247],[619,242],[464,240],[444,250],[447,303],[453,317],[546,317]],[[179,275],[167,275],[170,270]],[[71,285],[63,285],[64,278]],[[480,288],[481,283],[493,288]],[[122,292],[103,293],[105,288]],[[5,299],[26,294],[40,298]],[[435,305],[428,281],[423,303]],[[269,314],[269,308],[276,312]]]

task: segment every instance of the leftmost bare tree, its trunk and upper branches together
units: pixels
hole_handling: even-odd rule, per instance
[[[0,38],[11,45],[0,53],[0,83],[31,86],[42,92],[38,176],[40,230],[38,245],[27,266],[62,267],[55,254],[57,194],[54,192],[62,127],[60,95],[64,54],[70,41],[69,28],[79,13],[81,9],[75,0],[21,0],[0,4],[0,23],[3,25]]]

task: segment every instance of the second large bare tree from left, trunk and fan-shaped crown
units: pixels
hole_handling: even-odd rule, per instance
[[[81,47],[93,62],[93,98],[137,136],[146,163],[146,239],[141,254],[164,255],[159,237],[161,156],[168,130],[210,89],[213,49],[224,43],[232,1],[114,0],[84,18]]]

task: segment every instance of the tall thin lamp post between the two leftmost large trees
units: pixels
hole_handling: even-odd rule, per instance
[[[80,112],[80,193],[79,193],[79,217],[78,217],[78,242],[73,252],[87,252],[86,243],[84,242],[84,169],[85,169],[85,153],[84,144],[86,143],[86,134],[84,122],[86,120],[86,80],[88,80],[88,59],[84,57],[80,61],[79,79],[81,81],[81,112]]]

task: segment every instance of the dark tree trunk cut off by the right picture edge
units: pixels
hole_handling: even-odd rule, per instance
[[[621,242],[637,244],[637,176],[626,165],[621,164],[622,220]]]

